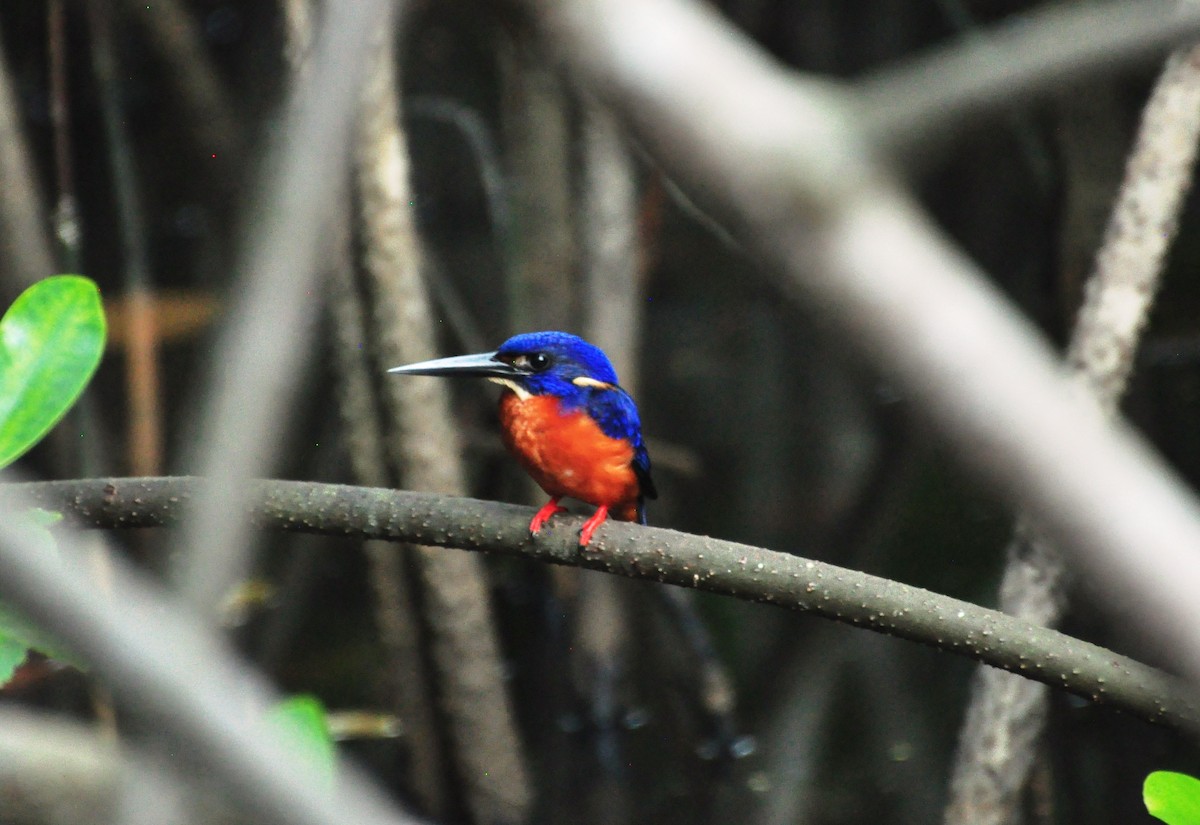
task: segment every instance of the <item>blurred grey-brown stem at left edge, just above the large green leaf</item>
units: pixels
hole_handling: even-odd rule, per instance
[[[34,176],[29,146],[20,127],[20,110],[0,47],[0,270],[11,273],[5,284],[13,294],[38,278],[53,275],[54,252],[46,224],[46,206]]]

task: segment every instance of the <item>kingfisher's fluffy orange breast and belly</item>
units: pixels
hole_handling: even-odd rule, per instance
[[[550,495],[607,505],[616,518],[637,519],[634,447],[604,434],[582,410],[563,414],[553,396],[522,401],[500,396],[500,435],[526,471]]]

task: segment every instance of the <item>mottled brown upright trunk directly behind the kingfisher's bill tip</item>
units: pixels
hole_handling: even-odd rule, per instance
[[[391,363],[437,351],[412,212],[408,153],[400,128],[392,32],[383,35],[362,96],[355,144],[364,265],[373,293],[370,323],[379,356]],[[385,381],[396,433],[389,457],[409,487],[464,488],[448,387],[439,381]],[[481,560],[464,552],[416,549],[438,692],[450,725],[450,758],[466,785],[474,821],[521,821],[532,801],[521,741],[492,627]]]

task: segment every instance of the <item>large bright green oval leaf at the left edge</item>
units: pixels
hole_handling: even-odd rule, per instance
[[[104,351],[100,290],[56,275],[22,293],[0,319],[0,466],[42,440],[88,386]]]

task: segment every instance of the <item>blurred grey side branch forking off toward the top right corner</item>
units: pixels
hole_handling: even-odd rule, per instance
[[[1187,2],[1050,4],[859,84],[864,128],[896,155],[929,153],[979,115],[1127,68],[1200,35]]]

